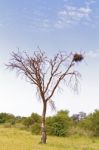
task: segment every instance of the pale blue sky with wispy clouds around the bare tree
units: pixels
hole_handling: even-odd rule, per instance
[[[54,55],[58,51],[83,52],[77,65],[81,90],[55,95],[57,110],[87,113],[99,108],[99,1],[98,0],[0,0],[0,112],[16,115],[41,113],[35,91],[15,73],[5,69],[11,51],[37,47]],[[48,110],[48,115],[53,114]]]

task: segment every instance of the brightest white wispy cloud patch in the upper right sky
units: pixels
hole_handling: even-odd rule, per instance
[[[91,20],[92,9],[90,7],[75,7],[66,6],[58,13],[59,20],[56,23],[57,27],[63,27],[68,24],[85,23]]]

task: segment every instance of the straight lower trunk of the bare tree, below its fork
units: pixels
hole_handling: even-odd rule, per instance
[[[46,126],[45,126],[45,117],[46,117],[46,107],[47,103],[43,102],[43,113],[42,113],[42,124],[41,124],[41,143],[46,144]]]

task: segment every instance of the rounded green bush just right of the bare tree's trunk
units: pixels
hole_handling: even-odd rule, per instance
[[[67,111],[59,111],[56,116],[48,117],[46,120],[47,133],[55,136],[67,136],[71,119]]]

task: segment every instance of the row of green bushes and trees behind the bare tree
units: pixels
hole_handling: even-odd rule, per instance
[[[29,117],[14,116],[9,113],[0,113],[0,125],[16,127],[31,131],[32,134],[41,132],[41,116],[32,113]],[[46,118],[47,134],[53,136],[99,136],[99,110],[86,115],[84,112],[69,116],[67,110],[60,110],[54,116]]]

